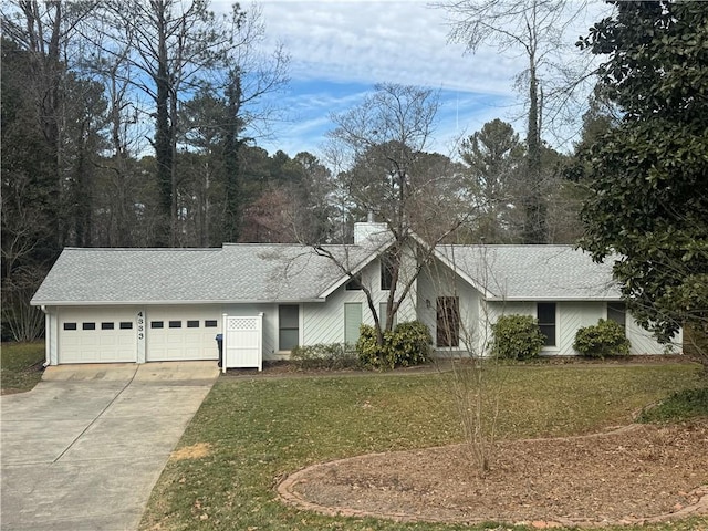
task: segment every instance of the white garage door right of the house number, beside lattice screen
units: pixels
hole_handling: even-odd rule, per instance
[[[148,308],[146,317],[148,362],[219,358],[220,308]]]

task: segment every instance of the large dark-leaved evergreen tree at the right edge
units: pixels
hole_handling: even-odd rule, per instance
[[[708,3],[615,9],[579,43],[605,58],[600,91],[623,113],[581,163],[591,191],[582,246],[596,260],[616,258],[629,310],[659,341],[681,325],[705,336]]]

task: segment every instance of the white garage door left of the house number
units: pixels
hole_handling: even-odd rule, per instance
[[[137,361],[135,309],[62,309],[59,314],[59,363]]]

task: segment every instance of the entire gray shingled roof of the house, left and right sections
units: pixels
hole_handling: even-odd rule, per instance
[[[325,249],[356,271],[383,249]],[[610,263],[568,246],[444,246],[438,256],[488,299],[617,300]],[[486,266],[486,267],[485,267]],[[299,302],[323,300],[346,275],[326,257],[293,244],[221,249],[65,249],[33,304]]]

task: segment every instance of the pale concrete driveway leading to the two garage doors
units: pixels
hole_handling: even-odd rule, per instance
[[[134,530],[216,362],[49,367],[0,397],[6,530]]]

